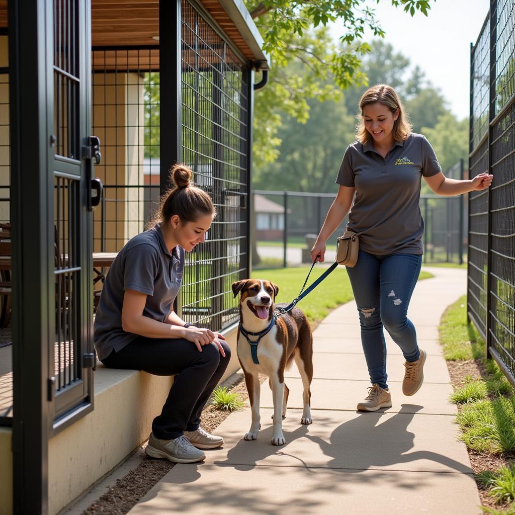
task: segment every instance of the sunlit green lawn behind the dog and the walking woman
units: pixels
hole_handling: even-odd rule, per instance
[[[289,304],[299,295],[300,288],[304,283],[309,266],[295,268],[265,268],[254,270],[252,277],[256,279],[267,279],[279,286],[279,294],[276,302]],[[308,285],[315,281],[324,272],[325,268],[313,269]],[[429,272],[421,272],[419,280],[433,277]],[[307,287],[306,286],[306,287]],[[349,276],[345,267],[339,266],[331,275],[320,283],[310,294],[304,297],[298,307],[306,314],[312,323],[317,323],[325,318],[331,310],[340,304],[349,302],[354,296],[349,282]],[[356,323],[357,323],[356,314]]]

